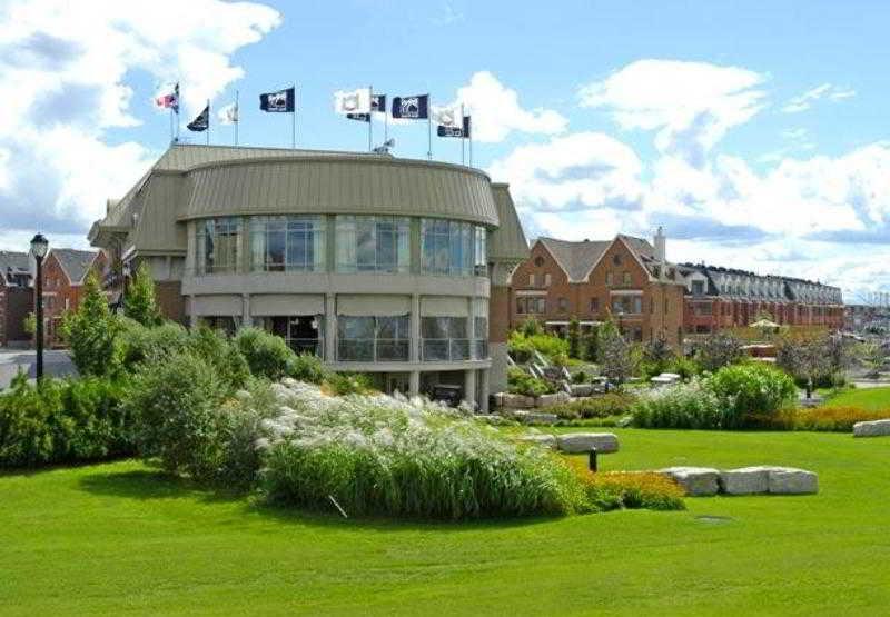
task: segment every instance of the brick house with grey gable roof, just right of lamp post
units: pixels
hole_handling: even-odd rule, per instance
[[[47,342],[59,344],[62,314],[76,310],[83,293],[87,275],[100,277],[106,269],[101,251],[51,249],[43,261],[43,322]]]

